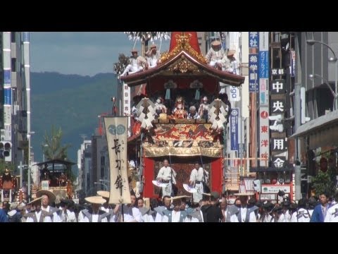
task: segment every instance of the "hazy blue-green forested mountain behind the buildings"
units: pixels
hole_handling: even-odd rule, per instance
[[[55,72],[31,73],[31,130],[35,162],[42,162],[44,135],[51,126],[61,127],[62,144],[70,144],[68,160],[77,163],[82,135],[90,139],[99,125],[98,116],[110,112],[116,96],[113,73],[65,75]],[[76,167],[73,167],[73,170]],[[76,169],[75,169],[76,170]]]

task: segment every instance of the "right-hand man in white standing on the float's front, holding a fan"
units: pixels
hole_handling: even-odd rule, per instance
[[[203,182],[208,183],[208,171],[203,169],[199,163],[195,163],[192,173],[190,173],[189,186],[194,186],[196,193],[192,193],[192,201],[198,203],[203,197]]]

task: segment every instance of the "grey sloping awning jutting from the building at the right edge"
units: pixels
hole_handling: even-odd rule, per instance
[[[338,110],[304,123],[289,138],[306,137],[310,149],[338,145]]]

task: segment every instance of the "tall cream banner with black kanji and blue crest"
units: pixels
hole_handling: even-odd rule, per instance
[[[104,118],[111,169],[110,204],[130,204],[127,174],[127,125],[127,116]]]

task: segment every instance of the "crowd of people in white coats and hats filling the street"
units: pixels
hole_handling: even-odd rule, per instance
[[[201,179],[199,166],[195,165],[189,178],[195,188],[201,182],[196,180]],[[96,196],[85,198],[84,205],[68,199],[55,205],[54,193],[38,191],[31,202],[4,202],[0,222],[338,222],[338,203],[334,201],[338,193],[332,198],[321,193],[319,200],[302,198],[296,203],[285,199],[276,204],[239,193],[230,204],[227,195],[218,192],[199,192],[193,198],[163,192],[162,198],[150,199],[137,198],[132,192],[131,203],[124,205],[109,204],[109,194],[98,191]],[[199,202],[194,202],[198,198]]]

